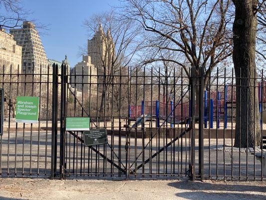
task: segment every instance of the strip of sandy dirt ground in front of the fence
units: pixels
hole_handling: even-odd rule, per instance
[[[0,178],[0,199],[266,199],[266,181]]]

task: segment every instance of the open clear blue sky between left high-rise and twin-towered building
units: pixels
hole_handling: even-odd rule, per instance
[[[92,14],[107,11],[118,0],[22,0],[24,9],[30,10],[29,19],[48,24],[48,30],[40,30],[47,57],[61,61],[67,54],[71,67],[77,57],[79,46],[88,39],[82,26],[84,19]]]

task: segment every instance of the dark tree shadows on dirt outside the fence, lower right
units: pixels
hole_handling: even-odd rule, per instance
[[[180,181],[168,183],[169,186],[191,190],[176,193],[176,196],[185,199],[266,199],[266,187],[248,184],[219,184],[199,181]],[[205,191],[203,191],[205,190]],[[245,191],[245,193],[243,193]],[[247,192],[262,192],[253,194]]]

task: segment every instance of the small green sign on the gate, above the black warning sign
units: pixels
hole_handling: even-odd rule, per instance
[[[89,130],[89,117],[66,117],[65,130]]]

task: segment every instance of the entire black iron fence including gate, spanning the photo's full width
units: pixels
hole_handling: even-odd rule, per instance
[[[234,70],[206,75],[180,67],[72,74],[55,64],[39,74],[4,68],[1,176],[266,178],[263,71],[236,77]],[[15,121],[19,95],[40,97],[37,124]],[[82,131],[66,131],[70,116],[106,128],[108,143],[85,146]]]

